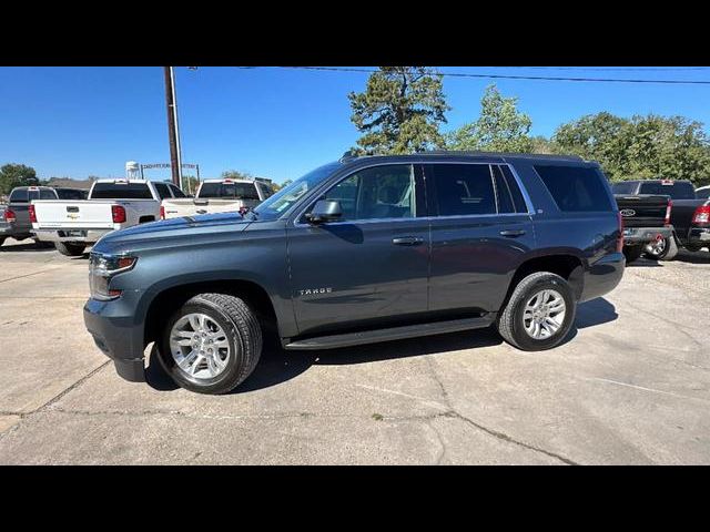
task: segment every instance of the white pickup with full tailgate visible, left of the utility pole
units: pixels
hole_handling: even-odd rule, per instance
[[[62,255],[79,256],[103,235],[160,218],[161,202],[185,197],[172,183],[98,180],[83,201],[34,200],[30,219],[34,236],[53,242]]]

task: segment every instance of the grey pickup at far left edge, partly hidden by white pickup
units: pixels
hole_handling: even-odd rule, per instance
[[[87,197],[84,191],[79,188],[53,188],[50,186],[18,186],[10,192],[8,205],[2,207],[0,217],[0,246],[6,238],[12,237],[16,241],[26,238],[40,238],[32,232],[30,222],[30,202],[33,200],[70,200]]]

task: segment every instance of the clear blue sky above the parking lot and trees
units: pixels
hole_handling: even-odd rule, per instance
[[[616,70],[613,70],[616,69]],[[443,72],[710,80],[706,70],[546,70],[446,66]],[[354,145],[347,93],[366,73],[277,68],[176,70],[183,162],[203,177],[241,170],[277,182],[335,160]],[[448,131],[475,120],[491,80],[445,78]],[[598,111],[681,114],[710,124],[710,85],[497,80],[519,98],[532,133]],[[161,66],[0,68],[0,164],[33,166],[40,177],[123,176],[125,161],[169,162]],[[151,178],[169,171],[150,171]]]

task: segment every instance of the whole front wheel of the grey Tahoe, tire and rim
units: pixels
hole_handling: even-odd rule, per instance
[[[159,358],[180,387],[226,393],[252,374],[261,351],[261,326],[242,299],[200,294],[168,320]]]

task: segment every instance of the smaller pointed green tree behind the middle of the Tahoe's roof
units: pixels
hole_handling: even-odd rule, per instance
[[[535,146],[529,135],[532,121],[518,111],[518,99],[506,98],[495,84],[488,85],[480,100],[476,122],[447,135],[449,150],[530,153]]]

